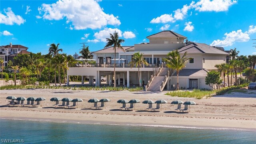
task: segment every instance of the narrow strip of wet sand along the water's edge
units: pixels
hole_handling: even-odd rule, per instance
[[[228,127],[207,127],[207,126],[201,126],[201,127],[195,127],[192,125],[157,125],[157,124],[123,124],[123,123],[106,123],[104,121],[102,122],[96,122],[95,121],[67,121],[62,119],[29,119],[29,118],[23,118],[23,117],[6,117],[6,118],[0,118],[0,120],[21,120],[21,121],[34,121],[34,122],[53,122],[53,123],[68,123],[68,124],[92,124],[92,125],[110,125],[110,126],[140,126],[140,127],[154,127],[154,128],[181,128],[181,129],[199,129],[199,130],[228,130],[228,131],[246,131],[246,132],[256,132],[256,129],[254,128],[228,128]]]

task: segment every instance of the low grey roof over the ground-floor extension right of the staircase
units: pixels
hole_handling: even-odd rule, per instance
[[[182,69],[179,76],[207,76],[208,70],[206,69]],[[177,76],[177,72],[173,76]]]

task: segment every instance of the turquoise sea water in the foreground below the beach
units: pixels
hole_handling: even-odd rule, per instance
[[[256,132],[0,119],[0,138],[31,144],[255,144]]]

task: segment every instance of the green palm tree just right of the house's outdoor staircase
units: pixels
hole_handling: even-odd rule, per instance
[[[167,54],[168,58],[166,58],[166,66],[168,68],[172,68],[173,70],[176,70],[177,72],[177,84],[176,84],[176,90],[180,89],[179,85],[179,72],[182,70],[182,68],[186,67],[186,63],[190,58],[186,58],[187,52],[184,53],[184,55],[181,57],[178,50],[169,52]]]

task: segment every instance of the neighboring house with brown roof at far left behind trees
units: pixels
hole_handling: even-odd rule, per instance
[[[9,60],[13,60],[13,57],[17,54],[28,54],[28,48],[22,45],[10,45],[0,46],[0,58],[4,60],[4,66],[7,66]]]

